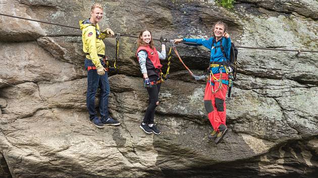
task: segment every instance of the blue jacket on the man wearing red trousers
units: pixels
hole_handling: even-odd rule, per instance
[[[209,39],[204,39],[204,38],[184,38],[183,42],[191,42],[191,43],[196,43],[198,46],[204,46],[207,49],[211,51],[210,54],[210,62],[223,62],[223,61],[229,61],[230,53],[231,53],[231,38],[222,38],[222,46],[224,48],[225,54],[227,58],[224,57],[223,52],[220,48],[220,43],[221,40],[218,42],[214,43],[215,48],[212,49],[212,42],[213,42],[213,37],[210,37]],[[213,73],[220,73],[219,67],[214,67],[210,68]],[[226,72],[225,69],[222,70],[222,72]]]

